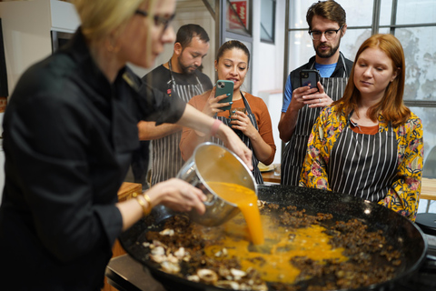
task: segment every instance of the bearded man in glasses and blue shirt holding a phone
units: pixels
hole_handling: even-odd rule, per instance
[[[293,70],[285,85],[279,122],[280,138],[287,143],[282,156],[282,185],[298,186],[312,125],[323,107],[342,97],[352,71],[352,61],[339,51],[347,30],[342,6],[332,0],[318,1],[309,7],[306,20],[316,55]],[[303,69],[318,70],[321,80],[315,88],[300,86]]]

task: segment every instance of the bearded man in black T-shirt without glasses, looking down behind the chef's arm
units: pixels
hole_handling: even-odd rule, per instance
[[[156,19],[154,19],[156,22]],[[183,25],[177,31],[173,55],[163,65],[144,75],[145,83],[171,97],[188,102],[194,95],[201,95],[213,88],[211,79],[200,72],[203,57],[209,50],[209,35],[200,25]],[[148,146],[152,143],[151,186],[177,175],[183,166],[179,149],[182,127],[173,124],[155,126],[154,122],[138,124],[141,147],[134,153],[132,172],[144,181],[148,170]],[[147,150],[145,150],[145,148]],[[148,155],[148,154],[147,154]],[[135,177],[135,180],[137,178]]]

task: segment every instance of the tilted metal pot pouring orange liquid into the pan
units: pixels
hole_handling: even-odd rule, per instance
[[[203,190],[207,196],[204,202],[206,212],[199,215],[195,210],[188,213],[194,222],[203,226],[219,226],[239,213],[233,203],[217,196],[209,182],[225,182],[252,189],[257,196],[257,184],[252,172],[238,156],[227,148],[213,143],[197,146],[177,177]]]

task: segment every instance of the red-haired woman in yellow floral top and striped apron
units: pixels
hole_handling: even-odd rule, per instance
[[[359,48],[342,99],[312,128],[300,186],[378,202],[414,221],[421,192],[421,119],[402,102],[404,53],[393,35]]]

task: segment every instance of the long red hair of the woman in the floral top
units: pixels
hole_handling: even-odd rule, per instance
[[[388,55],[389,58],[391,58],[393,69],[398,70],[398,75],[386,88],[381,101],[368,109],[368,116],[375,122],[377,121],[378,115],[381,113],[384,119],[387,122],[391,122],[393,126],[401,125],[411,116],[411,110],[402,102],[404,79],[406,75],[404,52],[400,41],[393,35],[372,35],[363,42],[354,59],[352,73],[345,87],[343,97],[335,101],[333,105],[337,105],[338,111],[344,111],[345,115],[349,115],[352,110],[357,111],[361,93],[354,84],[354,67],[357,65],[359,55],[370,47],[379,48]]]

